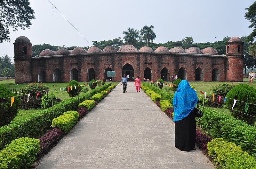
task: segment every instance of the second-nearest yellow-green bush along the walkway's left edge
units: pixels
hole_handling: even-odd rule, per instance
[[[61,130],[68,133],[69,130],[75,125],[76,117],[71,114],[63,114],[52,120],[51,127],[60,128]]]

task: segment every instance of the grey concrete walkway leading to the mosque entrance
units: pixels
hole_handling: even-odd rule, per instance
[[[115,84],[118,84],[117,82]],[[141,90],[121,83],[36,168],[213,168],[199,150],[174,146],[174,123]]]

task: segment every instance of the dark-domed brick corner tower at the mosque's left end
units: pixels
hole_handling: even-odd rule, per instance
[[[32,82],[31,57],[32,44],[25,36],[18,37],[14,45],[15,83]]]

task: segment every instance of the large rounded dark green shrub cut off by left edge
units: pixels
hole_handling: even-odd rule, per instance
[[[0,102],[0,126],[4,126],[9,124],[17,115],[20,100],[18,97],[14,97],[14,102],[11,107],[12,98],[9,97],[13,97],[15,95],[8,88],[5,88],[4,85],[0,85],[0,91],[0,98],[7,98],[1,99]]]

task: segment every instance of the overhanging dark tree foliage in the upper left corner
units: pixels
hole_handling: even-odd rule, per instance
[[[30,20],[35,19],[35,12],[29,5],[28,0],[0,0],[0,43],[10,42],[10,27],[17,31],[32,25]]]

